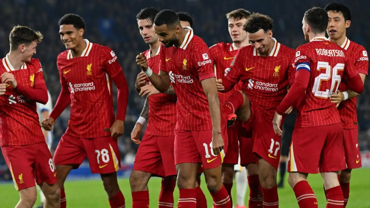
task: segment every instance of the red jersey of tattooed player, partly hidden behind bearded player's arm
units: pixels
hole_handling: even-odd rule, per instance
[[[147,56],[148,66],[153,73],[159,73],[159,51],[150,57],[150,50],[144,52]],[[147,78],[147,84],[152,84]],[[175,134],[176,126],[176,95],[159,93],[149,96],[149,119],[145,134],[155,136],[171,136]]]

